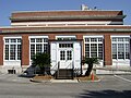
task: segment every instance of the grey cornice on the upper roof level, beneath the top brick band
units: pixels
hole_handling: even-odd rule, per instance
[[[126,15],[51,15],[51,16],[20,16],[10,17],[11,21],[35,21],[35,20],[119,20]]]

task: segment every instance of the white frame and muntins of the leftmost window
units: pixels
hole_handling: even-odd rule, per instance
[[[5,42],[5,39],[21,39],[22,40],[22,37],[21,36],[15,36],[15,37],[3,37],[3,41],[4,41],[4,46],[3,46],[3,61],[21,61],[21,60],[17,60],[17,45],[21,45],[21,48],[22,48],[22,41],[21,42]],[[9,60],[5,60],[5,45],[9,45]],[[11,60],[10,58],[10,46],[11,45],[15,45],[15,60]],[[22,52],[22,49],[21,49],[21,52]]]

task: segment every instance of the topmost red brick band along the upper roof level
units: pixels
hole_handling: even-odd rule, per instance
[[[12,17],[21,16],[56,16],[56,15],[122,15],[122,11],[36,11],[36,12],[16,12]]]

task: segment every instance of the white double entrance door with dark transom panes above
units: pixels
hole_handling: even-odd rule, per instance
[[[59,45],[59,62],[60,69],[73,68],[73,44]]]

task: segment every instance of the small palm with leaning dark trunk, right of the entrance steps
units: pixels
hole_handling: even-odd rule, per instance
[[[85,76],[90,76],[93,70],[93,64],[98,64],[98,59],[97,58],[85,58],[83,63],[88,64],[87,71],[85,72]]]

